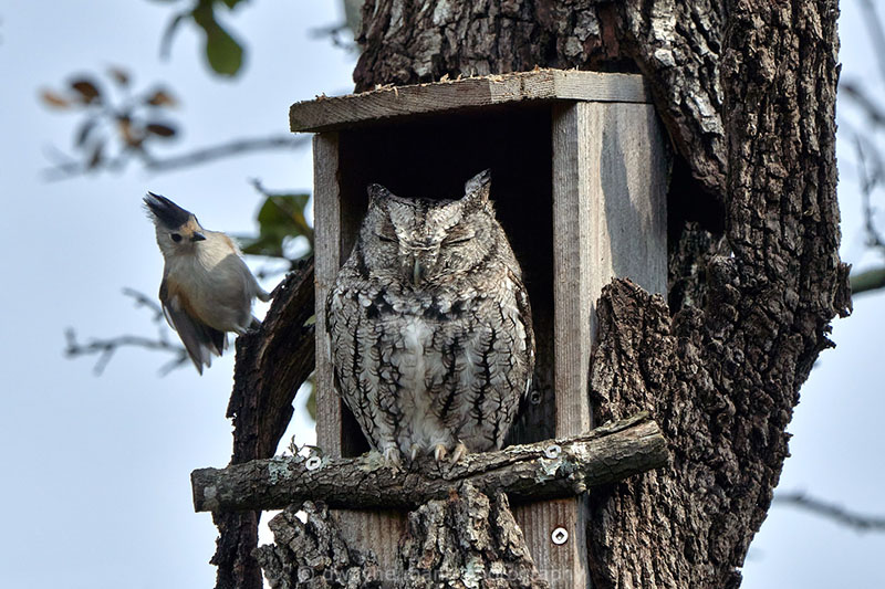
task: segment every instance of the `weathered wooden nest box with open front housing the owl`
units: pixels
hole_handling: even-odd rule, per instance
[[[403,197],[457,198],[491,168],[491,198],[531,296],[540,393],[511,442],[593,427],[595,304],[612,277],[666,293],[668,158],[638,75],[540,70],[320,97],[291,108],[314,137],[316,437],[326,455],[368,449],[332,385],[324,302],[377,182]],[[553,587],[586,587],[585,498],[516,506]],[[341,512],[355,547],[393,568],[405,514]]]

